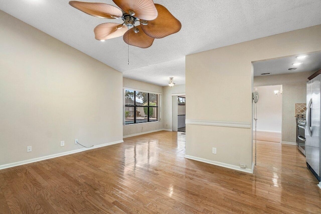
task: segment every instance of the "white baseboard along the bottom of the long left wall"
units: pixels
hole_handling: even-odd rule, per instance
[[[93,147],[90,147],[90,148],[81,148],[81,149],[66,151],[66,152],[62,152],[62,153],[58,153],[58,154],[51,154],[51,155],[47,155],[47,156],[43,156],[43,157],[37,157],[37,158],[29,159],[29,160],[22,160],[22,161],[18,161],[18,162],[14,162],[14,163],[8,163],[8,164],[0,165],[0,169],[6,169],[6,168],[14,167],[14,166],[27,164],[27,163],[33,163],[33,162],[37,162],[37,161],[41,161],[41,160],[47,160],[47,159],[51,159],[51,158],[55,158],[55,157],[60,157],[60,156],[68,155],[68,154],[74,154],[74,153],[87,151],[87,150],[90,150],[90,149],[96,149],[96,148],[109,146],[109,145],[122,143],[122,142],[124,142],[124,141],[123,140],[119,140],[119,141],[115,141],[115,142],[96,145],[96,146],[93,146]]]

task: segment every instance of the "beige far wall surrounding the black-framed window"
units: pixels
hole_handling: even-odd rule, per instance
[[[161,118],[159,118],[158,122],[150,122],[150,123],[139,123],[139,124],[129,124],[123,125],[123,136],[136,135],[143,132],[150,132],[155,130],[163,129],[163,87],[157,86],[150,83],[145,83],[137,80],[132,80],[128,78],[123,78],[123,88],[131,88],[136,90],[142,90],[147,92],[155,92],[162,94],[161,95]],[[143,111],[142,111],[143,113]]]

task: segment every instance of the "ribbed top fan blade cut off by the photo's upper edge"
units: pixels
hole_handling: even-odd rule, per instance
[[[133,11],[142,20],[154,20],[157,17],[157,10],[152,0],[112,0],[121,10],[129,14]]]

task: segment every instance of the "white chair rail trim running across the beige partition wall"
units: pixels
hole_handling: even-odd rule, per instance
[[[221,126],[221,127],[231,127],[231,128],[251,128],[251,123],[249,123],[249,122],[186,119],[185,123],[186,124],[190,124],[190,125],[203,125],[203,126]]]

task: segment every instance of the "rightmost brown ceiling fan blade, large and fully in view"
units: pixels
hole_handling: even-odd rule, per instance
[[[179,32],[182,24],[164,6],[155,4],[158,11],[156,19],[140,25],[143,32],[152,38],[160,39]]]

